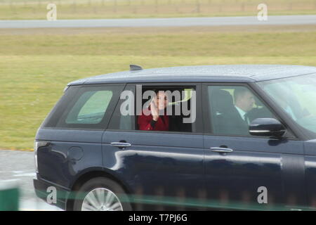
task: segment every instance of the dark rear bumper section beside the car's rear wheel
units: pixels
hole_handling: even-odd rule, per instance
[[[70,190],[61,188],[42,179],[33,179],[33,184],[38,198],[41,198],[50,205],[55,205],[62,210],[66,210]]]

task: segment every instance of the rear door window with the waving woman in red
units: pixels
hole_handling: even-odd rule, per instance
[[[197,132],[196,86],[128,84],[125,91],[130,94],[121,95],[107,129]],[[152,99],[157,98],[157,105],[151,105]],[[159,114],[154,122],[152,107]]]

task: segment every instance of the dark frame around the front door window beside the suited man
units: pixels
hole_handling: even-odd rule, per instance
[[[240,82],[240,83],[235,83],[235,82],[204,82],[202,83],[202,101],[203,103],[206,103],[206,105],[204,105],[203,108],[203,118],[204,118],[204,134],[208,135],[208,136],[227,136],[227,137],[243,137],[243,138],[259,138],[259,139],[270,139],[270,137],[268,136],[251,136],[249,135],[236,135],[236,134],[213,134],[213,131],[211,129],[211,112],[209,110],[209,92],[208,92],[208,87],[209,86],[244,86],[247,89],[249,89],[249,91],[251,91],[252,94],[254,94],[254,96],[256,96],[256,98],[258,98],[259,101],[261,101],[267,108],[268,110],[270,110],[270,113],[272,113],[273,115],[275,115],[275,117],[277,118],[277,120],[279,120],[279,122],[281,122],[282,124],[284,124],[284,126],[287,129],[287,133],[284,136],[285,138],[289,139],[289,140],[299,140],[298,136],[296,135],[296,132],[293,131],[292,127],[290,127],[287,123],[286,120],[283,119],[282,115],[280,115],[280,113],[275,110],[275,105],[272,105],[270,103],[270,101],[267,101],[267,99],[265,98],[265,95],[261,92],[258,92],[258,89],[256,89],[256,84],[252,84],[252,83],[244,83],[244,82]]]

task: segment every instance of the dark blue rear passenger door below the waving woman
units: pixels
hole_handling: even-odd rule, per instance
[[[159,89],[167,84],[150,85]],[[197,101],[201,101],[200,86],[190,86],[195,87]],[[136,96],[136,85],[127,85],[125,91]],[[202,113],[197,112],[192,131],[140,131],[136,129],[136,113],[122,115],[124,101],[121,99],[117,105],[103,134],[105,169],[129,187],[137,203],[151,203],[154,207],[161,203],[195,203],[204,189]]]

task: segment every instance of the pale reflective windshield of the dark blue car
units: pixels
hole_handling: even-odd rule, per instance
[[[284,113],[316,136],[316,74],[274,79],[258,84]]]

